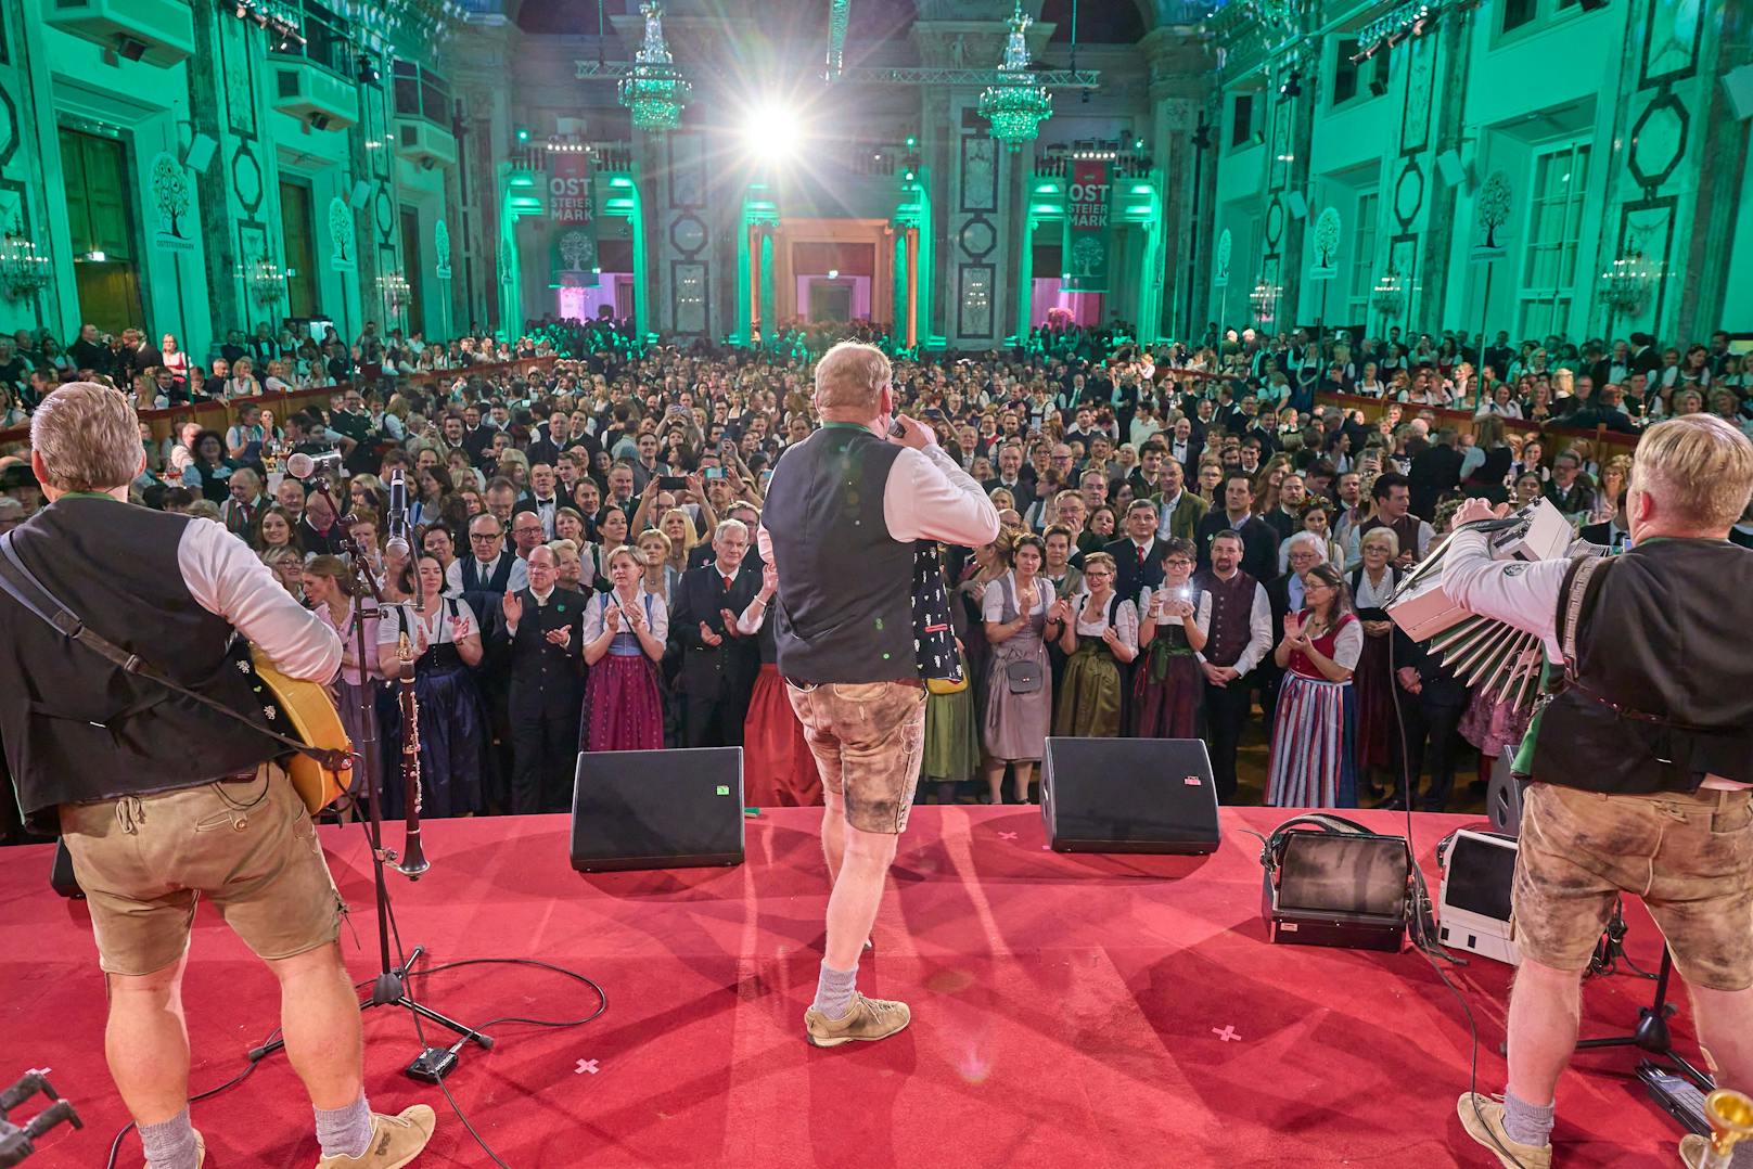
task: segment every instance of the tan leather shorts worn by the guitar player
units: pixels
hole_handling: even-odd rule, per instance
[[[61,804],[61,836],[110,974],[151,974],[181,959],[203,894],[263,959],[340,934],[347,906],[317,829],[273,764],[245,780]]]

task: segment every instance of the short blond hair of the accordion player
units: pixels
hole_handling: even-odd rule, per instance
[[[1692,529],[1727,529],[1753,494],[1753,442],[1713,414],[1658,422],[1637,443],[1630,485],[1657,496]]]

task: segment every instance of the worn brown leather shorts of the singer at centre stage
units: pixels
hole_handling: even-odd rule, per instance
[[[926,750],[926,687],[919,682],[785,684],[822,787],[843,796],[847,824],[905,832]]]

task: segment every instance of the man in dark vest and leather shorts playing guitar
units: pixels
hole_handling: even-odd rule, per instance
[[[231,641],[287,677],[328,682],[342,647],[223,526],[128,503],[138,419],[75,382],[32,417],[49,507],[0,545],[0,743],[19,810],[60,831],[109,988],[105,1052],[149,1169],[196,1169],[182,1017],[195,903],[205,894],[280,981],[286,1052],[316,1108],[319,1169],[396,1169],[433,1111],[373,1115],[359,1008],[337,938],[345,910],[303,803],[261,733],[110,662],[33,615],[30,582],[182,687],[261,719]],[[40,596],[40,594],[39,594]]]

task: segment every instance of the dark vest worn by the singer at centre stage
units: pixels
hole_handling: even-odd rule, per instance
[[[778,670],[794,682],[919,677],[913,545],[884,519],[899,454],[864,428],[824,426],[773,468],[761,526],[778,566]]]

